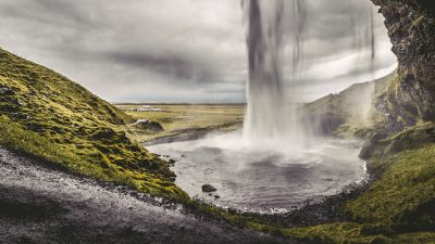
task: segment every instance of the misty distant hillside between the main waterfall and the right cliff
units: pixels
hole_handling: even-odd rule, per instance
[[[397,78],[394,72],[383,78],[355,84],[337,94],[328,94],[303,107],[306,117],[318,132],[338,137],[364,138],[382,127],[384,115],[378,112],[377,100]]]

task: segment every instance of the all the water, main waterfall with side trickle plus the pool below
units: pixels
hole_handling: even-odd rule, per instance
[[[243,1],[249,75],[243,131],[149,146],[177,162],[176,183],[191,196],[247,210],[291,209],[365,177],[360,143],[315,136],[299,114],[296,95],[284,92],[303,76],[307,24],[316,17],[310,15],[316,1]],[[353,0],[343,4],[347,1]],[[373,10],[368,1],[347,11],[353,49],[363,53],[369,47],[360,60],[373,69]],[[217,191],[203,193],[202,184]]]

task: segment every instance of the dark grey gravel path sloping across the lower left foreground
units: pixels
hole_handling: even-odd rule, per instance
[[[0,243],[293,243],[134,195],[0,147]]]

